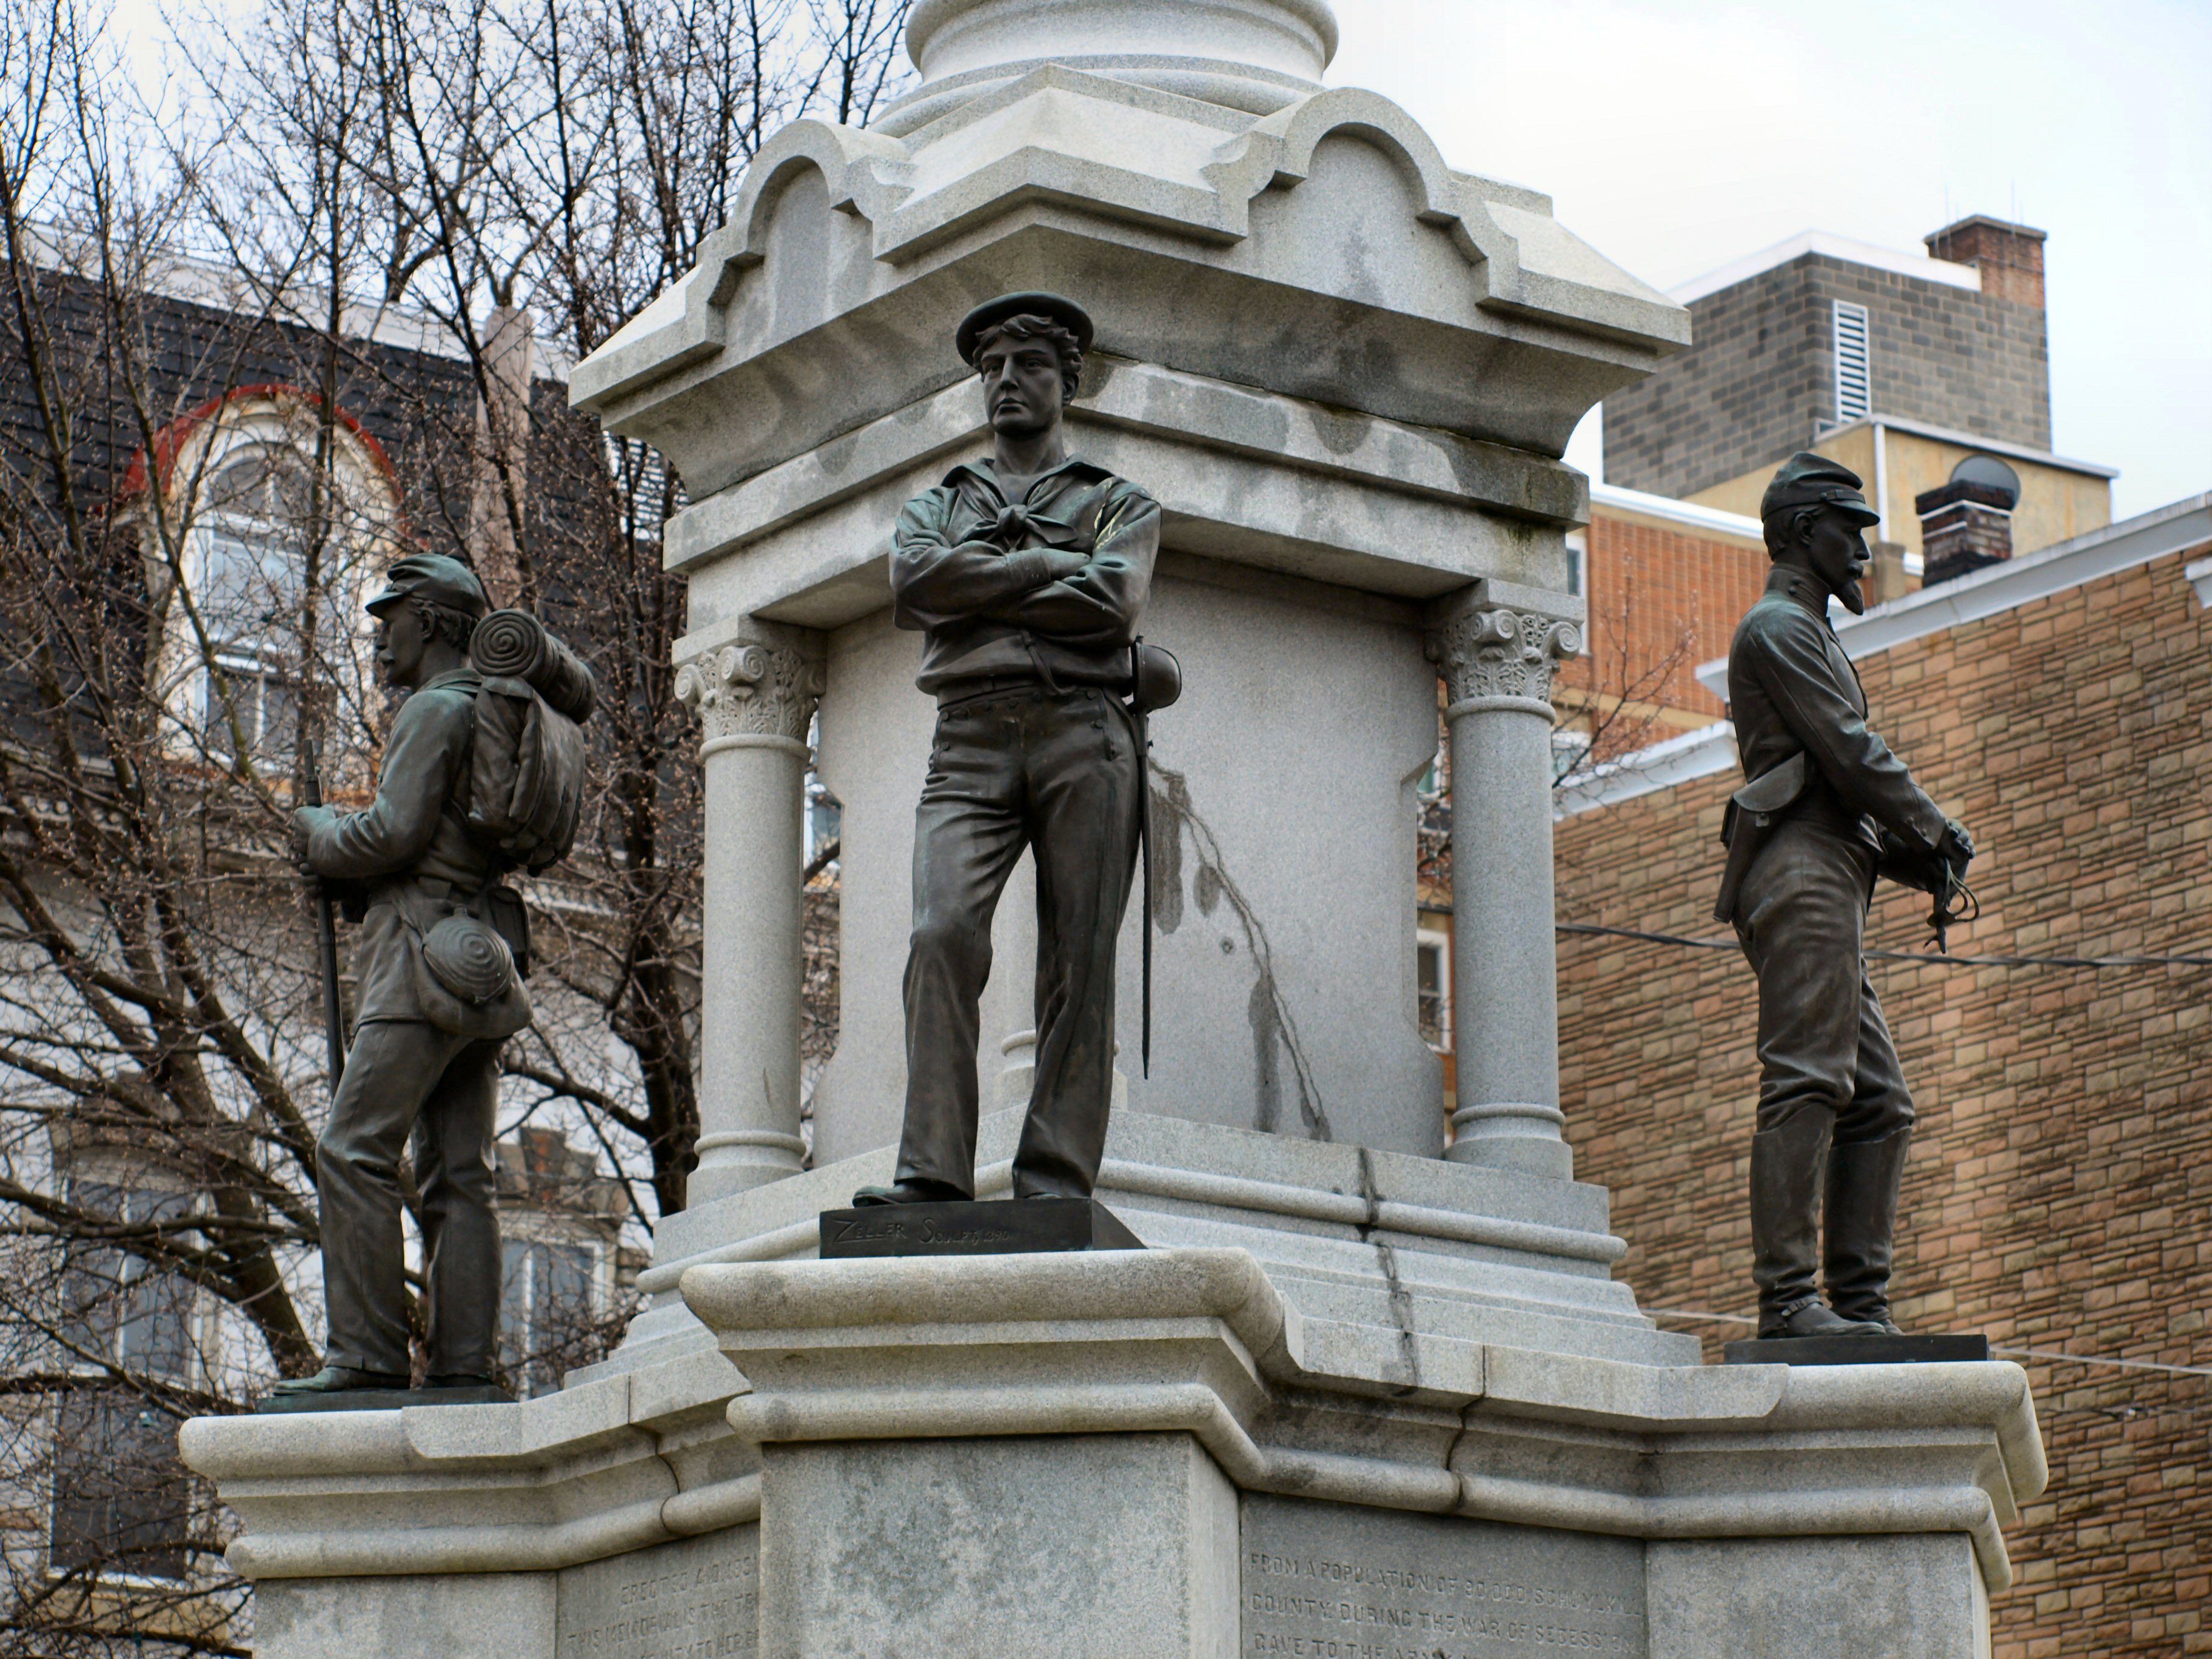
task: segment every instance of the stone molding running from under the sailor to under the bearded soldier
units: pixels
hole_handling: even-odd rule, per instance
[[[2048,1478],[2011,1363],[1641,1367],[1416,1336],[1407,1387],[1394,1340],[1334,1340],[1243,1250],[695,1267],[684,1296],[752,1383],[730,1402],[748,1444],[1183,1431],[1245,1491],[1340,1504],[1628,1537],[1964,1533],[1991,1590]]]

